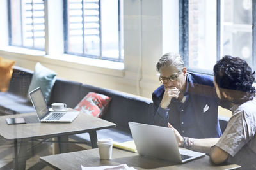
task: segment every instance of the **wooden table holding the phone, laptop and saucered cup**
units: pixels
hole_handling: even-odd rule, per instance
[[[27,124],[6,124],[5,118],[23,117]],[[0,117],[0,136],[6,140],[13,140],[15,169],[26,167],[26,141],[57,137],[60,142],[61,153],[68,152],[68,136],[89,132],[92,147],[97,147],[97,133],[99,129],[115,127],[115,124],[106,120],[80,113],[72,123],[40,123],[36,113],[22,113]],[[18,151],[18,141],[20,150]],[[18,160],[19,158],[19,160]]]

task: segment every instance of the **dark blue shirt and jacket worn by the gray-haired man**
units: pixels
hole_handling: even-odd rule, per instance
[[[191,138],[220,137],[218,97],[212,81],[212,76],[187,73],[186,100],[181,103],[173,98],[167,110],[160,107],[164,93],[161,85],[152,94],[154,124],[166,127],[170,122],[182,136]]]

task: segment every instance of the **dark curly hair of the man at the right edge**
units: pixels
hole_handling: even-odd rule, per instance
[[[255,71],[252,73],[245,60],[225,55],[215,64],[213,71],[220,92],[232,97],[232,103],[242,104],[255,96],[255,87],[252,86]]]

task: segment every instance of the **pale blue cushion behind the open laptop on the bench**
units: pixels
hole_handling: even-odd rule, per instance
[[[35,71],[29,85],[28,93],[37,87],[41,87],[46,103],[51,96],[51,90],[56,80],[56,73],[47,67],[42,66],[39,62],[36,63]],[[30,101],[29,96],[27,99]]]

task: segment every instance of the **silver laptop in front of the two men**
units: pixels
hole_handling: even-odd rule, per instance
[[[156,125],[129,122],[132,138],[139,155],[184,163],[203,157],[205,153],[178,147],[172,129]]]

